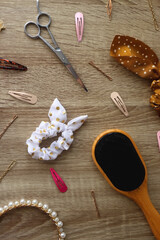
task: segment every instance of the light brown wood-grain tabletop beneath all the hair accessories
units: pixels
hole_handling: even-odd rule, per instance
[[[105,5],[104,0],[40,1],[41,10],[52,16],[50,29],[57,42],[89,89],[86,93],[52,51],[40,40],[24,34],[24,24],[36,20],[36,1],[0,1],[0,18],[6,26],[0,32],[0,56],[28,67],[27,72],[0,70],[0,131],[14,114],[19,116],[0,140],[0,174],[12,160],[17,160],[0,183],[0,205],[21,198],[48,203],[59,213],[69,240],[152,240],[154,236],[140,209],[115,192],[95,167],[91,147],[104,130],[120,128],[128,132],[146,162],[150,197],[160,211],[160,153],[156,139],[160,119],[149,106],[150,81],[130,73],[109,56],[113,37],[125,34],[145,41],[160,57],[160,32],[154,29],[147,0],[114,0],[111,22]],[[160,2],[153,0],[153,5],[160,24]],[[75,34],[77,11],[85,16],[82,43],[77,42]],[[89,61],[94,61],[113,81],[93,69]],[[33,93],[38,102],[34,106],[20,102],[10,97],[8,90]],[[121,94],[129,118],[112,103],[112,91]],[[48,110],[56,97],[66,108],[69,120],[83,114],[89,118],[75,134],[69,151],[56,161],[39,162],[28,155],[25,141],[42,120],[48,121]],[[65,194],[55,186],[50,167],[68,185]],[[91,198],[92,189],[100,219]],[[45,214],[24,208],[1,217],[0,239],[51,240],[57,239],[57,232]]]

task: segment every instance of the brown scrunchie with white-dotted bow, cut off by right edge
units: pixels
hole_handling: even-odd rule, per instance
[[[110,55],[122,66],[142,78],[151,80],[160,78],[160,62],[157,55],[148,45],[138,39],[116,35],[111,45]],[[154,91],[152,85],[151,88]],[[155,91],[150,98],[150,103],[152,107],[160,111],[160,95],[157,95]]]

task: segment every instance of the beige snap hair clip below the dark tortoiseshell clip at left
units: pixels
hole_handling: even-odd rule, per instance
[[[15,91],[9,91],[8,94],[14,98],[17,98],[18,100],[21,100],[23,102],[27,102],[30,104],[36,104],[37,102],[37,97],[33,94],[29,94],[25,92],[15,92]]]

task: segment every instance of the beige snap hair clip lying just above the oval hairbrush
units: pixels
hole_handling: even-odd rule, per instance
[[[129,113],[127,111],[126,105],[123,102],[121,96],[117,92],[111,93],[111,99],[115,103],[115,105],[119,108],[119,110],[126,116],[129,116]]]

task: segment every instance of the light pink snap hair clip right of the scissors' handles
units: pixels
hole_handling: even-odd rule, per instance
[[[78,42],[82,41],[83,30],[84,30],[84,16],[83,13],[77,12],[75,14],[75,23],[76,23],[76,33]]]

